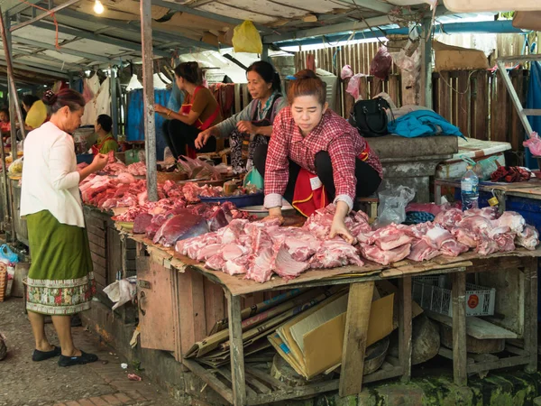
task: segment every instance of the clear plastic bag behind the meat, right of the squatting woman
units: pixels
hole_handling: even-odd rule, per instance
[[[397,189],[384,189],[378,193],[380,206],[376,228],[388,226],[391,223],[401,224],[406,220],[406,207],[415,197],[415,190],[407,186],[399,186]]]

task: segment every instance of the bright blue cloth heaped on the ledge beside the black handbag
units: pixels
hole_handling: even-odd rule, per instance
[[[442,131],[438,131],[437,126]],[[463,137],[460,130],[445,120],[441,115],[432,110],[417,110],[402,115],[387,125],[390,134],[397,134],[403,137],[414,138],[426,135],[456,135]]]

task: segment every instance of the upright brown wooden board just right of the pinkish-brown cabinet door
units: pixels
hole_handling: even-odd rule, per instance
[[[203,275],[187,268],[175,272],[179,280],[180,342],[183,355],[194,343],[206,337],[205,288]]]

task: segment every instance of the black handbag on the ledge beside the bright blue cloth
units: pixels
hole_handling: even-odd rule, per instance
[[[389,131],[387,130],[388,118],[385,109],[390,110],[390,105],[383,97],[359,100],[353,105],[349,123],[357,128],[363,137],[387,135]]]

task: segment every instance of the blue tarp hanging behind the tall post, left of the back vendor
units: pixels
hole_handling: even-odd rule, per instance
[[[165,106],[170,98],[170,90],[154,90],[154,102]],[[142,89],[128,93],[128,106],[126,114],[126,140],[143,141],[144,124],[142,120]],[[156,120],[156,159],[163,160],[163,150],[167,146],[163,139],[162,125],[165,119],[161,115],[155,115]]]

